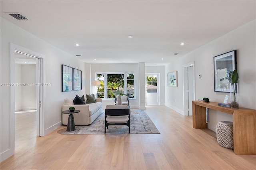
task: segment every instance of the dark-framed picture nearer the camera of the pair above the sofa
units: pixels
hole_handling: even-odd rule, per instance
[[[62,64],[62,91],[73,90],[73,68]]]

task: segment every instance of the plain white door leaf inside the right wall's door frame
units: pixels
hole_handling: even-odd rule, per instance
[[[188,68],[188,115],[192,116],[192,101],[194,100],[194,66]]]

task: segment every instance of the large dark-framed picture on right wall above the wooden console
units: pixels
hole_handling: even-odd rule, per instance
[[[236,69],[236,50],[217,55],[214,58],[214,91],[230,92],[228,75]]]

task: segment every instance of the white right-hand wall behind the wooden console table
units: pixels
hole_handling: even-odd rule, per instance
[[[224,36],[209,42],[188,53],[184,57],[168,64],[165,69],[178,71],[178,87],[166,86],[166,106],[184,111],[183,108],[183,65],[195,61],[196,100],[208,97],[210,101],[223,102],[225,95],[230,93],[214,92],[214,63],[213,57],[237,50],[237,70],[239,74],[239,106],[256,109],[256,21],[249,22]],[[170,99],[171,98],[171,99]],[[170,103],[168,103],[170,99]],[[173,100],[176,102],[174,103]],[[216,131],[219,121],[232,121],[232,115],[210,110],[208,128]]]

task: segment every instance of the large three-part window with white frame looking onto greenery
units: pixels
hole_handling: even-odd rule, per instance
[[[99,98],[114,99],[118,94],[134,98],[134,73],[96,73],[96,80],[100,80]]]

